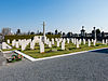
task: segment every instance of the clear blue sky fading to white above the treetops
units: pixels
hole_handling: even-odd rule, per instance
[[[0,0],[0,31],[86,32],[93,27],[108,32],[108,0]]]

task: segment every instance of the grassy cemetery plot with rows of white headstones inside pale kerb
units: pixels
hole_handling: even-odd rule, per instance
[[[73,52],[108,48],[108,39],[46,38],[35,36],[33,39],[8,39],[2,42],[2,51],[19,51],[33,58],[42,58]],[[12,56],[12,59],[17,56]],[[10,59],[10,58],[9,58]]]

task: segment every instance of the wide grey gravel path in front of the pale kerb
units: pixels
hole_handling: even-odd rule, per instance
[[[108,81],[108,49],[3,66],[0,81]]]

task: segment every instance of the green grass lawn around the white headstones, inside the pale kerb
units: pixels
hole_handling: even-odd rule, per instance
[[[100,48],[108,48],[108,45],[105,45],[105,44],[100,44],[100,43],[97,43],[96,46],[92,45],[91,46],[87,46],[87,43],[86,44],[80,44],[80,48],[77,49],[75,44],[72,43],[66,43],[66,50],[65,51],[62,51],[60,48],[57,48],[56,46],[56,43],[55,45],[52,45],[53,48],[50,49],[48,48],[48,45],[45,45],[45,49],[44,49],[44,53],[40,53],[39,51],[39,44],[36,44],[35,46],[35,50],[30,50],[29,45],[26,48],[25,51],[21,51],[21,49],[15,49],[13,48],[12,50],[3,50],[3,51],[14,51],[14,50],[18,50],[33,58],[42,58],[42,57],[49,57],[49,56],[54,56],[54,55],[62,55],[62,54],[68,54],[68,53],[73,53],[73,52],[81,52],[81,51],[89,51],[89,50],[95,50],[95,49],[100,49]],[[54,51],[55,50],[55,51]]]

